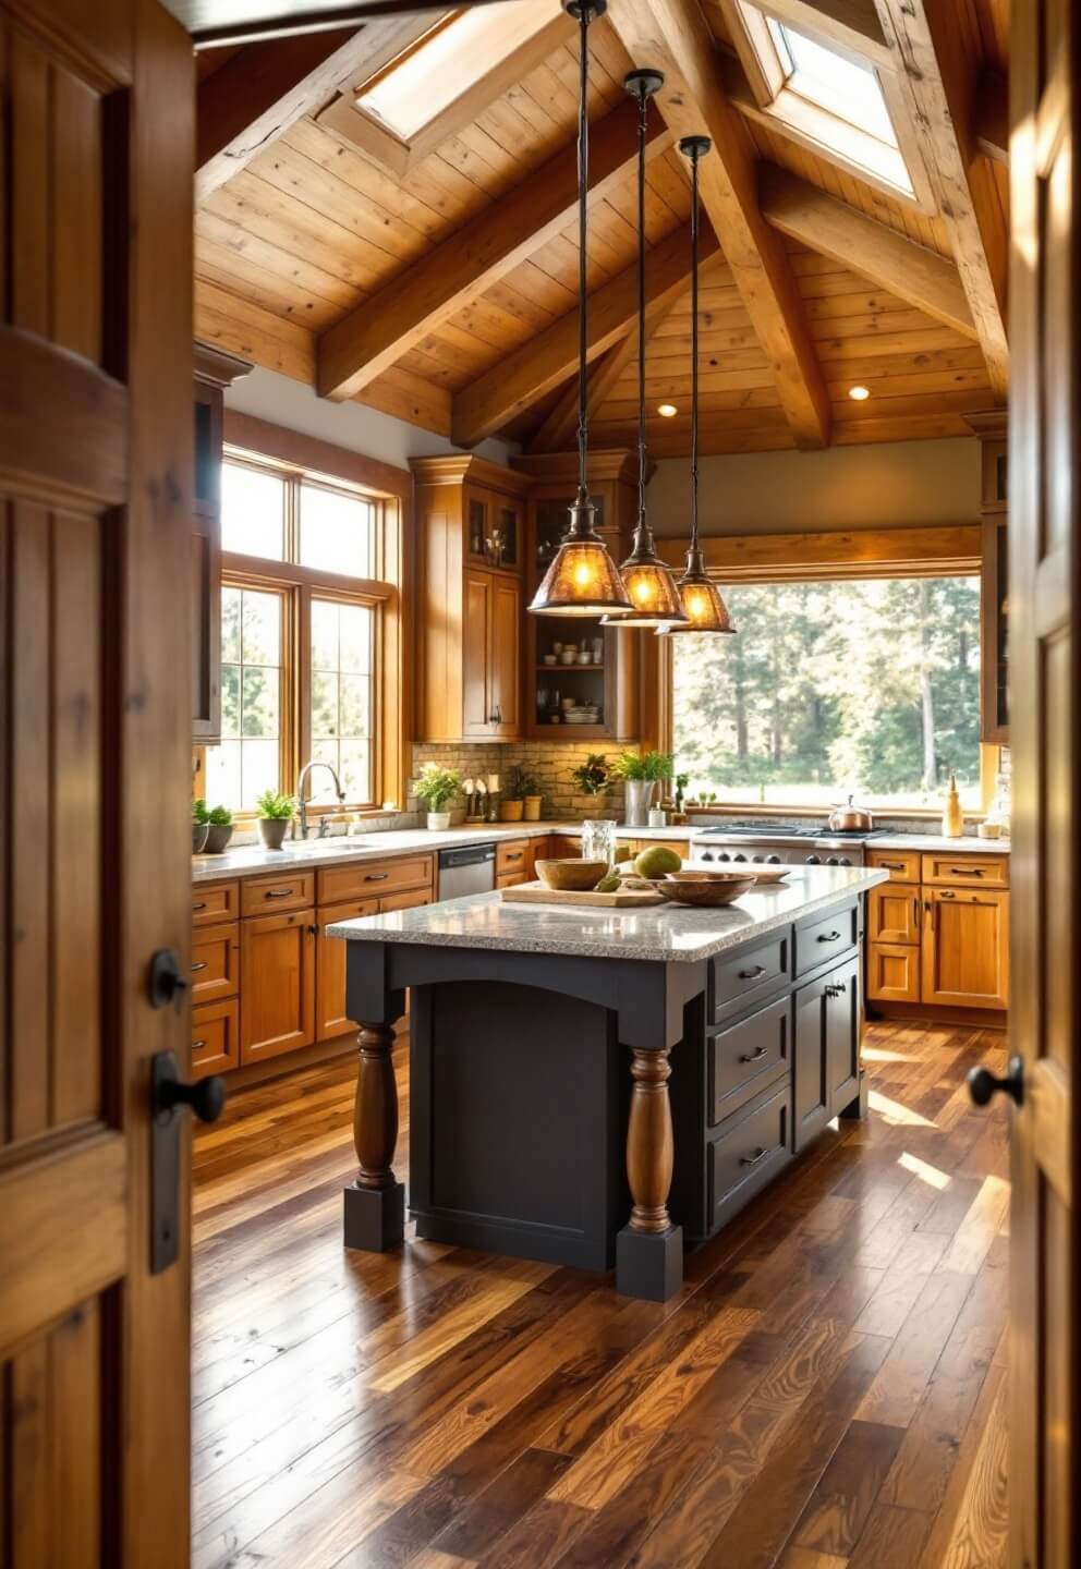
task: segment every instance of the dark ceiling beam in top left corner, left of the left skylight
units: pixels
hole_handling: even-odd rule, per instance
[[[238,49],[199,83],[196,207],[347,82],[380,71],[430,27],[430,16],[384,17]]]

